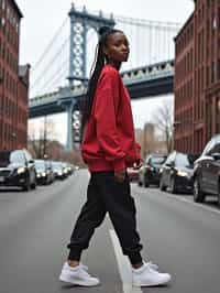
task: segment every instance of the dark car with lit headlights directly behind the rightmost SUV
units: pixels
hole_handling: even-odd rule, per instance
[[[172,193],[191,192],[194,189],[194,162],[198,155],[174,151],[161,169],[160,188]]]

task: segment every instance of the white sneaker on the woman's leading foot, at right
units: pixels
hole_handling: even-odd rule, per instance
[[[150,263],[144,263],[140,269],[132,269],[132,278],[134,286],[164,285],[172,280],[170,274],[153,270]]]

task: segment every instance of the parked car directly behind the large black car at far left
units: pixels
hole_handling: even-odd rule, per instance
[[[36,167],[36,180],[38,184],[51,184],[54,181],[54,172],[50,161],[34,160]]]

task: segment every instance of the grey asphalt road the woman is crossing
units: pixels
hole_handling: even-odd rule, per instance
[[[108,217],[82,256],[101,285],[82,289],[59,283],[66,243],[85,202],[87,182],[88,173],[77,171],[66,181],[29,193],[0,191],[0,293],[219,293],[220,211],[216,205],[196,205],[190,196],[136,184],[132,184],[132,194],[143,257],[173,275],[170,285],[130,287],[118,265],[123,256],[116,251]]]

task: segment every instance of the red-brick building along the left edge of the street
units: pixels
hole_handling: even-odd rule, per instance
[[[30,66],[19,66],[22,13],[13,0],[0,0],[0,150],[28,143]]]

